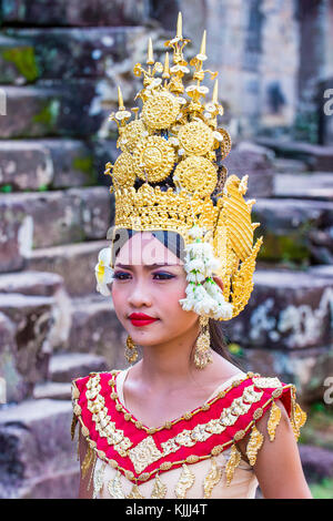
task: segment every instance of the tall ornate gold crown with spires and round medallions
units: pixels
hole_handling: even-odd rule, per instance
[[[218,165],[218,160],[231,151],[231,137],[226,130],[218,127],[218,115],[223,114],[218,102],[218,80],[209,102],[209,89],[201,85],[206,73],[212,80],[218,75],[202,69],[208,58],[205,39],[204,31],[200,52],[190,61],[194,71],[186,88],[183,76],[191,71],[183,48],[191,40],[182,37],[181,13],[175,38],[164,43],[173,49],[172,67],[168,52],[164,64],[154,62],[149,39],[148,69],[141,63],[133,69],[137,76],[143,74],[143,89],[135,95],[143,106],[140,114],[138,106],[131,109],[134,120],[129,122],[132,114],[118,88],[119,110],[109,119],[117,122],[117,147],[122,153],[114,165],[107,163],[105,174],[113,182],[110,192],[115,197],[114,231],[124,227],[178,232],[185,245],[192,241],[189,231],[194,225],[208,231],[204,242],[211,244],[219,259],[214,273],[223,279],[223,296],[233,305],[234,317],[250,298],[263,237],[253,246],[253,232],[260,223],[251,222],[255,200],[243,198],[249,176],[226,177],[226,168]],[[157,78],[157,73],[162,78]]]

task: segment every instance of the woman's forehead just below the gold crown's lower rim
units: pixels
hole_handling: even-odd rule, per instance
[[[115,264],[182,265],[183,262],[150,232],[137,233],[120,248]]]

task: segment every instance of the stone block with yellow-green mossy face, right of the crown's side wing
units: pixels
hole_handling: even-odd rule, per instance
[[[324,201],[260,198],[252,207],[252,218],[261,223],[256,233],[264,236],[261,260],[292,260],[310,264],[311,229],[332,226],[333,205]]]

